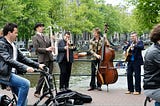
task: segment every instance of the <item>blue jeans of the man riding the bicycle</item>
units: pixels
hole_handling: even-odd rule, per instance
[[[30,81],[11,73],[9,81],[0,80],[0,83],[6,84],[11,87],[12,92],[14,92],[17,97],[17,106],[26,106],[27,95],[30,87]]]

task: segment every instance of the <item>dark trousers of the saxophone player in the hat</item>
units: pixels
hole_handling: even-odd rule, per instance
[[[41,63],[41,64],[45,64],[49,68],[49,73],[52,74],[53,61],[48,61],[46,63]],[[37,83],[37,87],[36,87],[36,91],[35,91],[36,94],[40,94],[41,93],[41,89],[42,89],[43,84],[44,84],[43,93],[45,93],[48,90],[47,85],[46,85],[46,83],[44,81],[45,81],[44,80],[44,76],[43,76],[43,74],[40,73],[40,77],[39,77],[39,80],[38,80],[38,83]],[[52,80],[50,80],[50,84],[52,84],[51,82],[52,82]],[[53,85],[51,85],[51,87],[53,88]]]

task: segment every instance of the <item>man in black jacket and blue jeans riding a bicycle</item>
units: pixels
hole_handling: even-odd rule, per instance
[[[17,106],[26,106],[30,81],[16,73],[34,72],[32,67],[43,69],[44,65],[23,56],[17,49],[14,44],[18,36],[16,24],[7,23],[3,28],[3,35],[0,39],[0,83],[10,86],[17,95]]]

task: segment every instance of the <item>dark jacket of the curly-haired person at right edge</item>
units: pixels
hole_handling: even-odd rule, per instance
[[[144,89],[160,88],[160,45],[151,45],[144,60]]]

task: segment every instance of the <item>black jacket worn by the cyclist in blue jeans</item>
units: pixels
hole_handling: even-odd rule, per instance
[[[26,64],[26,65],[25,65]],[[3,37],[0,39],[0,79],[9,81],[12,68],[17,72],[25,73],[28,66],[38,68],[39,63],[23,56],[17,49],[17,60],[13,60],[13,47]]]

